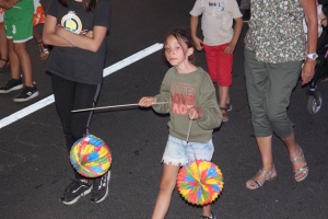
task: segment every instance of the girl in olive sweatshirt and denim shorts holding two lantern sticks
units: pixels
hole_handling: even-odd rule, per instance
[[[195,66],[194,43],[190,33],[174,30],[164,42],[163,53],[173,66],[165,74],[160,94],[144,96],[139,105],[152,106],[159,113],[169,113],[169,136],[163,155],[163,175],[153,219],[163,219],[169,207],[172,192],[181,165],[197,159],[210,161],[214,152],[213,128],[220,126],[220,113],[215,89],[208,73]],[[155,104],[167,102],[166,104]],[[192,120],[189,141],[187,132]],[[201,218],[215,218],[211,206],[202,208]]]

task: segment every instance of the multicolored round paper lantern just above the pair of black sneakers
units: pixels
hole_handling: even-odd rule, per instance
[[[97,177],[109,170],[112,153],[105,141],[93,135],[86,135],[72,146],[70,160],[81,175]]]

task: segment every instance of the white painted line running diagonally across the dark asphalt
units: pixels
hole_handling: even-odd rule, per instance
[[[141,51],[138,51],[137,54],[133,54],[133,55],[122,59],[121,61],[118,61],[118,62],[105,68],[103,71],[103,76],[105,78],[105,77],[114,73],[115,71],[118,71],[118,70],[120,70],[120,69],[122,69],[122,68],[125,68],[125,67],[162,49],[162,48],[163,48],[163,44],[154,44]],[[10,116],[2,118],[0,120],[0,129],[47,106],[47,105],[50,105],[54,102],[55,102],[55,96],[52,94],[52,95],[49,95],[48,97],[45,97],[21,111],[17,111],[16,113],[11,114]]]

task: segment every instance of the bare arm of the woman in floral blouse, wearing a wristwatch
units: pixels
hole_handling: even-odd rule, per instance
[[[301,0],[305,20],[307,23],[307,53],[316,53],[317,39],[318,39],[318,18],[317,7],[315,0]],[[315,73],[315,60],[306,58],[304,67],[302,69],[302,84],[308,83]]]

